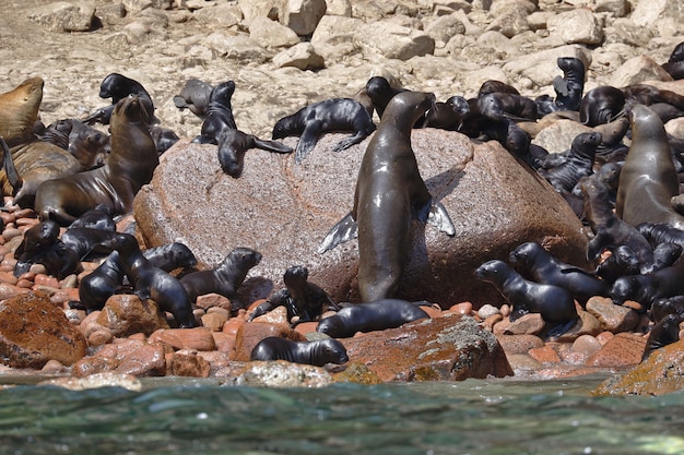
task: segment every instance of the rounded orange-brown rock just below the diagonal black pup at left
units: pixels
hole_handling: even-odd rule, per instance
[[[151,335],[158,328],[168,328],[168,323],[154,300],[142,302],[138,296],[114,295],[107,299],[97,323],[116,337],[135,333]]]

